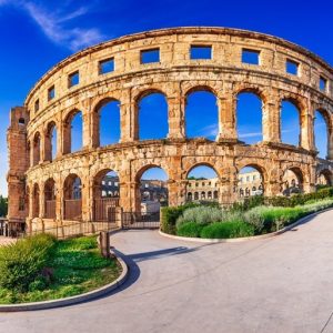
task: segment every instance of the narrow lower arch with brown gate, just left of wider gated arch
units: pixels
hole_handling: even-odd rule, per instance
[[[77,174],[67,176],[63,184],[64,220],[82,220],[82,183]]]

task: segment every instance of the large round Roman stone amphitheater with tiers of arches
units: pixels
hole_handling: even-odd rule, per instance
[[[201,49],[208,56],[192,57],[192,51]],[[163,29],[85,49],[53,67],[31,89],[24,105],[11,110],[9,222],[28,228],[92,222],[97,206],[107,204],[139,211],[140,179],[152,167],[168,175],[170,205],[186,201],[188,174],[198,165],[215,171],[212,195],[223,204],[239,199],[239,174],[248,167],[260,173],[264,195],[282,195],[289,171],[304,192],[315,191],[320,178],[331,184],[332,82],[332,67],[314,53],[243,30]],[[186,135],[186,100],[198,91],[209,91],[216,99],[215,140]],[[169,132],[162,139],[140,140],[138,105],[155,92],[165,97]],[[262,101],[263,140],[255,144],[242,142],[236,130],[236,101],[242,92]],[[112,101],[119,102],[120,140],[101,147],[100,110]],[[299,111],[297,145],[282,142],[283,101]],[[326,123],[326,159],[317,157],[314,144],[315,112]],[[72,152],[71,123],[78,113],[82,114],[83,143]],[[119,175],[117,200],[101,195],[101,181],[111,170]]]

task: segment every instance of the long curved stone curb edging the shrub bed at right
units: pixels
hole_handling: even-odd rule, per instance
[[[333,208],[329,208],[325,210],[322,210],[320,212],[315,212],[312,214],[309,214],[300,220],[297,220],[296,222],[279,230],[279,231],[274,231],[268,234],[261,234],[261,235],[256,235],[256,236],[250,236],[250,238],[239,238],[239,239],[200,239],[200,238],[184,238],[184,236],[178,236],[178,235],[173,235],[173,234],[169,234],[165,233],[161,230],[159,230],[160,235],[169,238],[169,239],[173,239],[173,240],[179,240],[179,241],[186,241],[186,242],[198,242],[198,243],[241,243],[241,242],[246,242],[246,241],[255,241],[255,240],[265,240],[265,239],[270,239],[270,238],[274,238],[276,235],[280,235],[293,228],[295,228],[296,225],[306,222],[309,219],[316,216],[319,214],[325,213],[327,211],[333,210]]]

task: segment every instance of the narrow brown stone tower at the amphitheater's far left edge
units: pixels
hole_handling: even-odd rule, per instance
[[[26,201],[26,171],[29,168],[27,147],[27,123],[29,114],[23,107],[11,109],[10,125],[7,130],[9,172],[8,181],[8,220],[11,231],[24,228],[28,204]]]

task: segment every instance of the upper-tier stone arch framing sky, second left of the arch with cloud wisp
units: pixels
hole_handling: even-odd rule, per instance
[[[160,103],[160,105],[153,107],[149,103],[144,105],[144,102],[147,101],[157,102],[154,99],[159,100],[158,103]],[[161,89],[150,88],[138,93],[134,101],[134,138],[137,140],[165,139],[169,133],[169,102],[167,93],[164,93]],[[152,110],[150,109],[153,108],[155,108],[154,110],[158,112],[151,112]],[[144,121],[142,121],[143,119]],[[148,122],[148,120],[152,123]],[[155,123],[159,123],[159,127],[154,127]],[[154,132],[157,128],[161,132]]]

